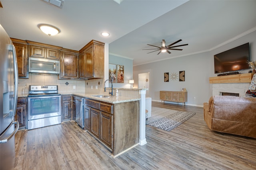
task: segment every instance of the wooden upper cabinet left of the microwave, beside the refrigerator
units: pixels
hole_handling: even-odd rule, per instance
[[[20,39],[11,38],[16,50],[19,78],[28,78],[28,43]]]

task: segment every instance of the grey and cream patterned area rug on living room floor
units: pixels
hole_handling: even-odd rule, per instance
[[[170,131],[181,125],[184,121],[188,120],[195,114],[196,113],[192,112],[152,107],[151,117],[146,120],[146,124],[165,131]]]

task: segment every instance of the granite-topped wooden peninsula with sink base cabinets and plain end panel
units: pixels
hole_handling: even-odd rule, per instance
[[[125,96],[73,93],[84,98],[84,126],[116,157],[139,145],[139,100]]]

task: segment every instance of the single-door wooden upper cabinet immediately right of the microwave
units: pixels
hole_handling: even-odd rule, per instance
[[[79,53],[78,51],[65,49],[61,51],[59,79],[79,78]]]

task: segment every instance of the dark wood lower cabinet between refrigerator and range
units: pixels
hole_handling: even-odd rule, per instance
[[[27,107],[28,107],[27,98],[26,97],[18,98],[16,115],[14,119],[20,123],[19,129],[26,129],[26,125],[28,121]]]

